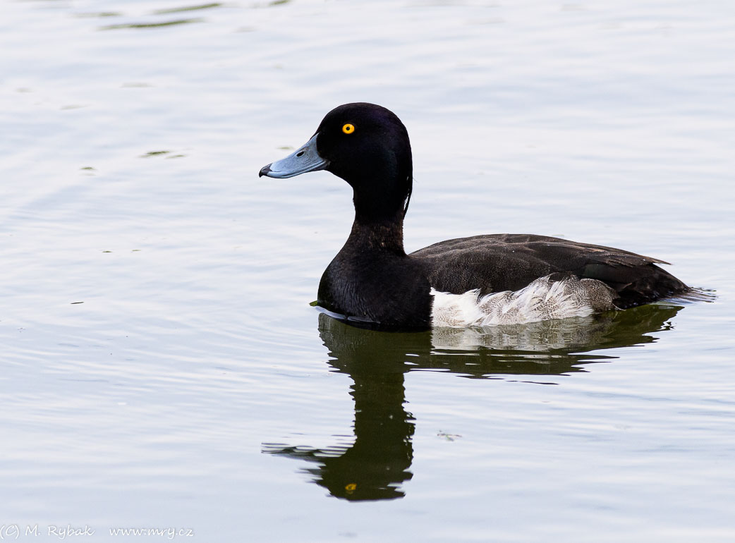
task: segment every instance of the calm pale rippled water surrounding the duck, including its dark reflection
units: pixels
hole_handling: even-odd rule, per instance
[[[732,2],[6,1],[0,51],[0,536],[735,540]],[[407,249],[562,236],[716,301],[318,314],[351,191],[257,173],[348,101],[409,129]]]

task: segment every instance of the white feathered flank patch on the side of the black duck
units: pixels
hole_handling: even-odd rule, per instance
[[[432,326],[465,328],[536,323],[539,320],[587,317],[608,309],[615,292],[601,281],[574,276],[552,281],[539,277],[515,292],[493,292],[480,296],[479,290],[450,294],[431,289],[434,306]]]

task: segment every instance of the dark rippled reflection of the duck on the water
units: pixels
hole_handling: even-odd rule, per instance
[[[412,478],[415,419],[404,409],[404,374],[439,370],[468,378],[545,383],[544,375],[585,372],[582,364],[617,358],[594,351],[655,342],[681,306],[648,305],[591,317],[493,328],[434,328],[401,333],[348,326],[319,315],[319,334],[334,371],[350,375],[355,401],[352,445],[313,448],[264,443],[265,453],[312,462],[313,481],[346,500],[404,496]],[[537,376],[537,377],[534,377]]]

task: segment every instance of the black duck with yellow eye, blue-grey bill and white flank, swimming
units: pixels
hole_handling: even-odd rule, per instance
[[[326,170],[347,181],[355,209],[316,305],[356,326],[482,327],[619,311],[692,291],[637,253],[535,234],[485,234],[404,250],[413,190],[408,131],[385,107],[332,109],[316,132],[259,176]]]

